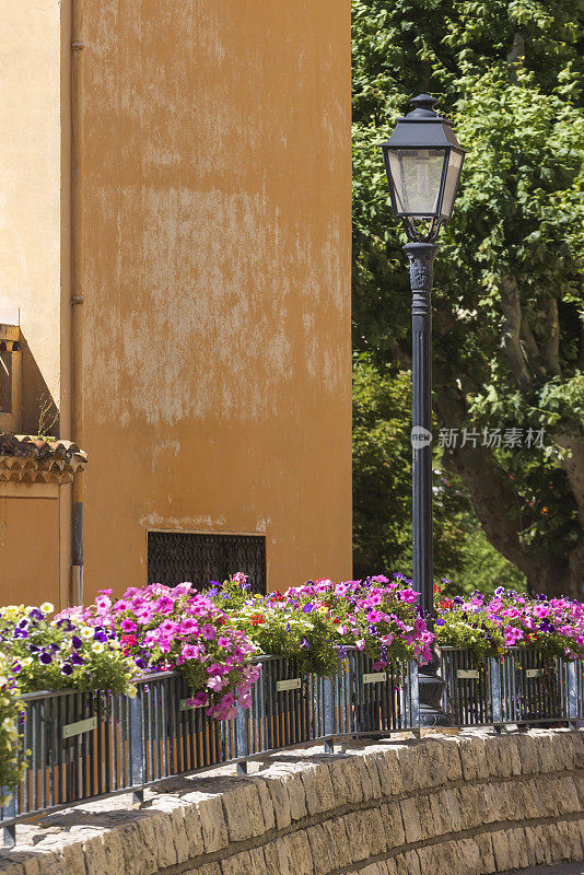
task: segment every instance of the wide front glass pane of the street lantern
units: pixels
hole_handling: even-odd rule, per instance
[[[397,212],[400,215],[437,215],[445,149],[388,150]]]

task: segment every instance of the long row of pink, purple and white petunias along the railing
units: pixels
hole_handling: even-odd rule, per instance
[[[584,606],[500,588],[491,598],[444,596],[436,586],[437,643],[478,660],[516,648],[544,660],[584,654]],[[0,608],[0,784],[19,780],[20,692],[72,688],[136,695],[135,681],[177,670],[190,707],[218,720],[249,708],[260,654],[293,658],[302,674],[336,675],[347,648],[373,672],[399,661],[428,662],[434,642],[418,594],[401,574],[365,581],[309,581],[252,595],[244,574],[197,592],[191,584],[102,591],[87,607],[51,619],[52,605]]]

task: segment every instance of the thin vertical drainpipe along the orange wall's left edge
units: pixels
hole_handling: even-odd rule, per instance
[[[71,423],[83,440],[83,0],[71,9]],[[83,604],[83,471],[73,477],[71,603]]]

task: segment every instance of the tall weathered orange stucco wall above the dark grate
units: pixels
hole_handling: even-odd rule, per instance
[[[148,528],[350,575],[350,0],[83,30],[86,596],[145,582]]]

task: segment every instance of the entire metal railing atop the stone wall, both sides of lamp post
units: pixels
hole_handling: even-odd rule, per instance
[[[455,726],[574,724],[584,720],[584,660],[546,661],[513,649],[479,660],[465,649],[442,650],[445,709]],[[297,661],[257,660],[252,707],[235,720],[208,718],[176,673],[141,678],[135,699],[72,690],[21,698],[24,779],[0,808],[4,842],[15,825],[104,795],[143,790],[173,775],[247,761],[275,750],[347,738],[419,733],[418,666],[378,669],[348,650],[335,677],[302,674]]]

